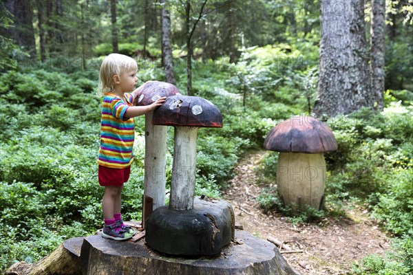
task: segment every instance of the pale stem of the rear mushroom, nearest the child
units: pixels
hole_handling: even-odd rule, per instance
[[[153,125],[153,111],[145,115],[145,197],[153,199],[152,210],[165,206],[167,126]],[[143,203],[143,213],[147,203]],[[143,217],[145,221],[147,217]]]

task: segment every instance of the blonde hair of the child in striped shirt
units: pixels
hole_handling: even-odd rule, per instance
[[[98,96],[103,96],[108,91],[112,91],[115,88],[113,77],[115,75],[120,76],[131,65],[138,67],[134,58],[129,56],[123,54],[109,54],[106,56],[102,65],[100,65]]]

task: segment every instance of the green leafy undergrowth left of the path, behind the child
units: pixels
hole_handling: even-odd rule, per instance
[[[242,94],[229,79],[225,59],[195,64],[193,90],[222,111],[224,128],[199,129],[195,195],[220,197],[238,159],[262,146],[276,120],[299,105],[265,102]],[[186,77],[177,67],[177,87]],[[140,67],[140,84],[163,80],[162,70]],[[97,181],[100,98],[96,70],[67,72],[31,68],[0,76],[0,270],[15,261],[33,262],[63,240],[94,234],[102,226],[103,188]],[[125,219],[141,219],[145,118],[136,118],[135,162],[123,191]],[[167,189],[171,179],[173,128],[167,140]],[[169,194],[169,193],[168,193]],[[168,195],[167,195],[168,196]],[[168,197],[167,197],[168,199]]]

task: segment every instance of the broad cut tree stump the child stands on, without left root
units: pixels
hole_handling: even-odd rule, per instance
[[[83,274],[232,275],[295,274],[273,243],[245,231],[236,231],[237,243],[226,246],[220,256],[182,258],[160,254],[145,241],[136,243],[88,236],[83,241]]]

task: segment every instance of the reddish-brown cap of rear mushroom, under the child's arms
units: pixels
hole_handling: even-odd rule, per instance
[[[135,106],[147,106],[164,96],[175,96],[180,91],[175,85],[162,81],[149,81],[145,83],[140,93],[134,99]]]

